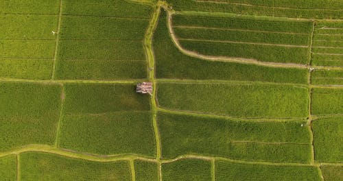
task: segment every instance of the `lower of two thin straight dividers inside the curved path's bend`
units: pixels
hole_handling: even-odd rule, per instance
[[[235,44],[245,44],[245,45],[263,45],[272,47],[300,47],[308,48],[307,45],[285,45],[285,44],[272,44],[272,43],[252,43],[252,42],[240,42],[240,41],[230,41],[230,40],[205,40],[205,39],[191,39],[191,38],[177,38],[183,41],[193,41],[193,42],[203,42],[203,43],[235,43]]]

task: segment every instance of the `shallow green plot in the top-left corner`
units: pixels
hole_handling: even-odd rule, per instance
[[[58,14],[60,0],[1,0],[0,13]]]

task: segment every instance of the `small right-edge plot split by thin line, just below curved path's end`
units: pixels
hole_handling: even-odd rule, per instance
[[[311,84],[343,85],[343,71],[316,70],[311,72]]]

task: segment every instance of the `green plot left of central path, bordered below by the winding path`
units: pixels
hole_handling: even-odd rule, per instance
[[[66,114],[59,147],[92,154],[154,157],[156,146],[150,112]]]

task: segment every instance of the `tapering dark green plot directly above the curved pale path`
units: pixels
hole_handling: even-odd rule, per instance
[[[222,43],[202,40],[180,40],[182,47],[206,56],[249,58],[263,62],[308,63],[308,47],[284,47],[252,45],[245,43]]]

